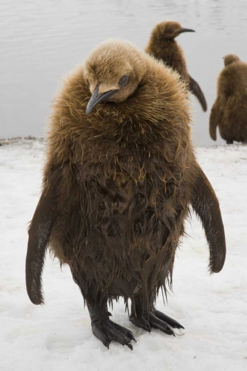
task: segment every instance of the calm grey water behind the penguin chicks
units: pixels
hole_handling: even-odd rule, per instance
[[[247,61],[247,0],[0,0],[0,138],[43,136],[62,77],[94,46],[118,37],[143,49],[169,19],[196,30],[177,38],[208,103],[204,113],[191,96],[193,140],[215,144],[208,122],[222,57]]]

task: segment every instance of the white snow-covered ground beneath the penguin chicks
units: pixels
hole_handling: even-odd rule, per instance
[[[195,218],[173,274],[173,290],[158,309],[185,327],[183,336],[151,334],[128,322],[124,303],[113,319],[137,340],[131,352],[107,350],[91,332],[87,309],[68,268],[47,256],[46,304],[25,288],[27,223],[41,189],[42,140],[0,146],[0,370],[4,371],[241,371],[247,370],[247,146],[198,147],[198,160],[220,200],[227,240],[223,271],[209,276],[208,250]]]

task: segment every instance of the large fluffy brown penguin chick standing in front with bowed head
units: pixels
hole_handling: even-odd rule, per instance
[[[189,205],[201,218],[210,271],[225,260],[214,191],[197,164],[190,109],[179,75],[130,43],[97,46],[65,82],[53,106],[41,199],[29,228],[26,284],[43,303],[46,249],[70,266],[93,334],[132,349],[133,334],[107,305],[131,299],[130,321],[174,334],[156,310],[171,282]]]

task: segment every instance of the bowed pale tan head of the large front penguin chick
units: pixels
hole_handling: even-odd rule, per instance
[[[120,40],[103,42],[90,53],[84,68],[92,94],[87,115],[98,103],[122,102],[135,92],[145,73],[145,55]]]

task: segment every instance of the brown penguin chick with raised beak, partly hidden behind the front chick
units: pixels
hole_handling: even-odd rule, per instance
[[[180,23],[174,21],[158,23],[151,33],[145,51],[176,70],[206,112],[207,105],[204,93],[198,83],[188,74],[183,50],[175,41],[175,38],[183,32],[195,31],[182,28]]]

